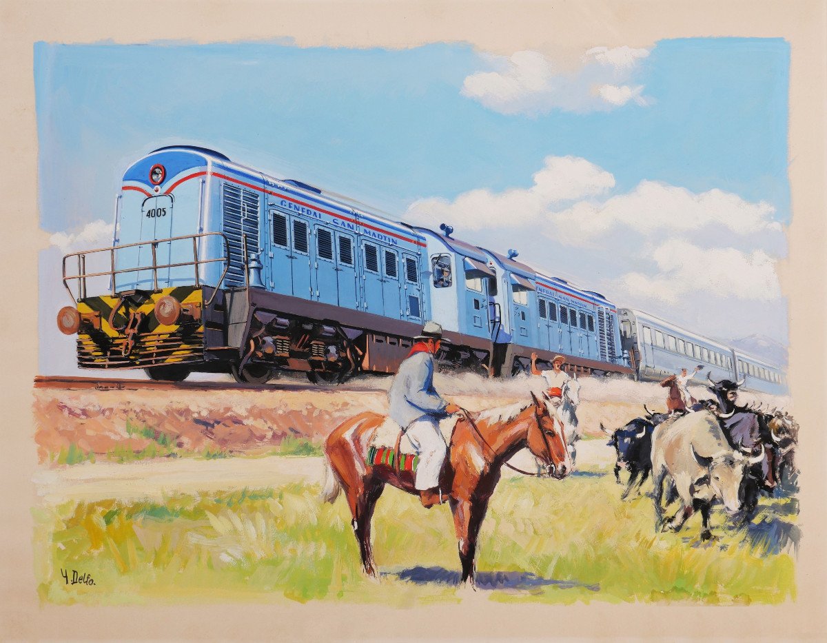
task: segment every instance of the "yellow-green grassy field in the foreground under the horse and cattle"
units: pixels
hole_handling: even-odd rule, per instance
[[[648,490],[648,486],[644,490]],[[52,603],[345,600],[456,602],[457,543],[447,507],[425,511],[389,488],[374,518],[381,578],[361,574],[342,498],[291,484],[165,502],[37,507],[36,575]],[[619,500],[610,474],[506,479],[482,527],[478,584],[506,602],[780,603],[795,598],[794,498],[763,498],[746,528],[713,514],[656,534],[649,498]],[[72,583],[88,574],[86,583]],[[63,574],[66,574],[64,578]],[[92,579],[94,584],[88,584]],[[68,581],[68,582],[67,582]]]

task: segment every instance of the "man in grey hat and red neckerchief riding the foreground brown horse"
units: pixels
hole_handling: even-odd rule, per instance
[[[414,487],[423,507],[442,503],[439,474],[447,455],[447,445],[439,430],[439,420],[460,411],[446,402],[433,388],[433,355],[442,343],[442,326],[428,322],[414,338],[408,357],[390,385],[390,418],[399,424],[419,456]]]

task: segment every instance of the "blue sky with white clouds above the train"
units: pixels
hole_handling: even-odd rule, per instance
[[[111,242],[123,171],[203,145],[720,339],[786,344],[789,45],[595,43],[571,60],[471,45],[35,46],[41,372],[60,256]],[[68,348],[67,348],[68,346]]]

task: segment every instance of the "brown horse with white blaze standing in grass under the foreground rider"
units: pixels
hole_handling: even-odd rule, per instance
[[[462,582],[470,583],[471,587],[474,586],[477,535],[506,460],[527,447],[548,475],[562,479],[571,472],[566,438],[562,426],[549,414],[548,398],[541,401],[534,393],[531,397],[532,403],[519,407],[462,414],[451,435],[440,486],[447,494],[454,517]],[[378,413],[361,413],[338,426],[325,443],[328,465],[325,500],[333,502],[344,489],[353,515],[351,524],[359,542],[361,562],[370,576],[376,574],[370,549],[370,518],[385,483],[408,493],[418,493],[413,472],[397,473],[393,464],[366,462],[370,441],[384,421],[385,417]]]

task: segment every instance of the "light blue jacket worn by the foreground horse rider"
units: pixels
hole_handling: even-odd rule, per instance
[[[433,355],[414,353],[399,364],[388,399],[390,418],[402,428],[421,417],[443,417],[448,402],[433,388]]]

